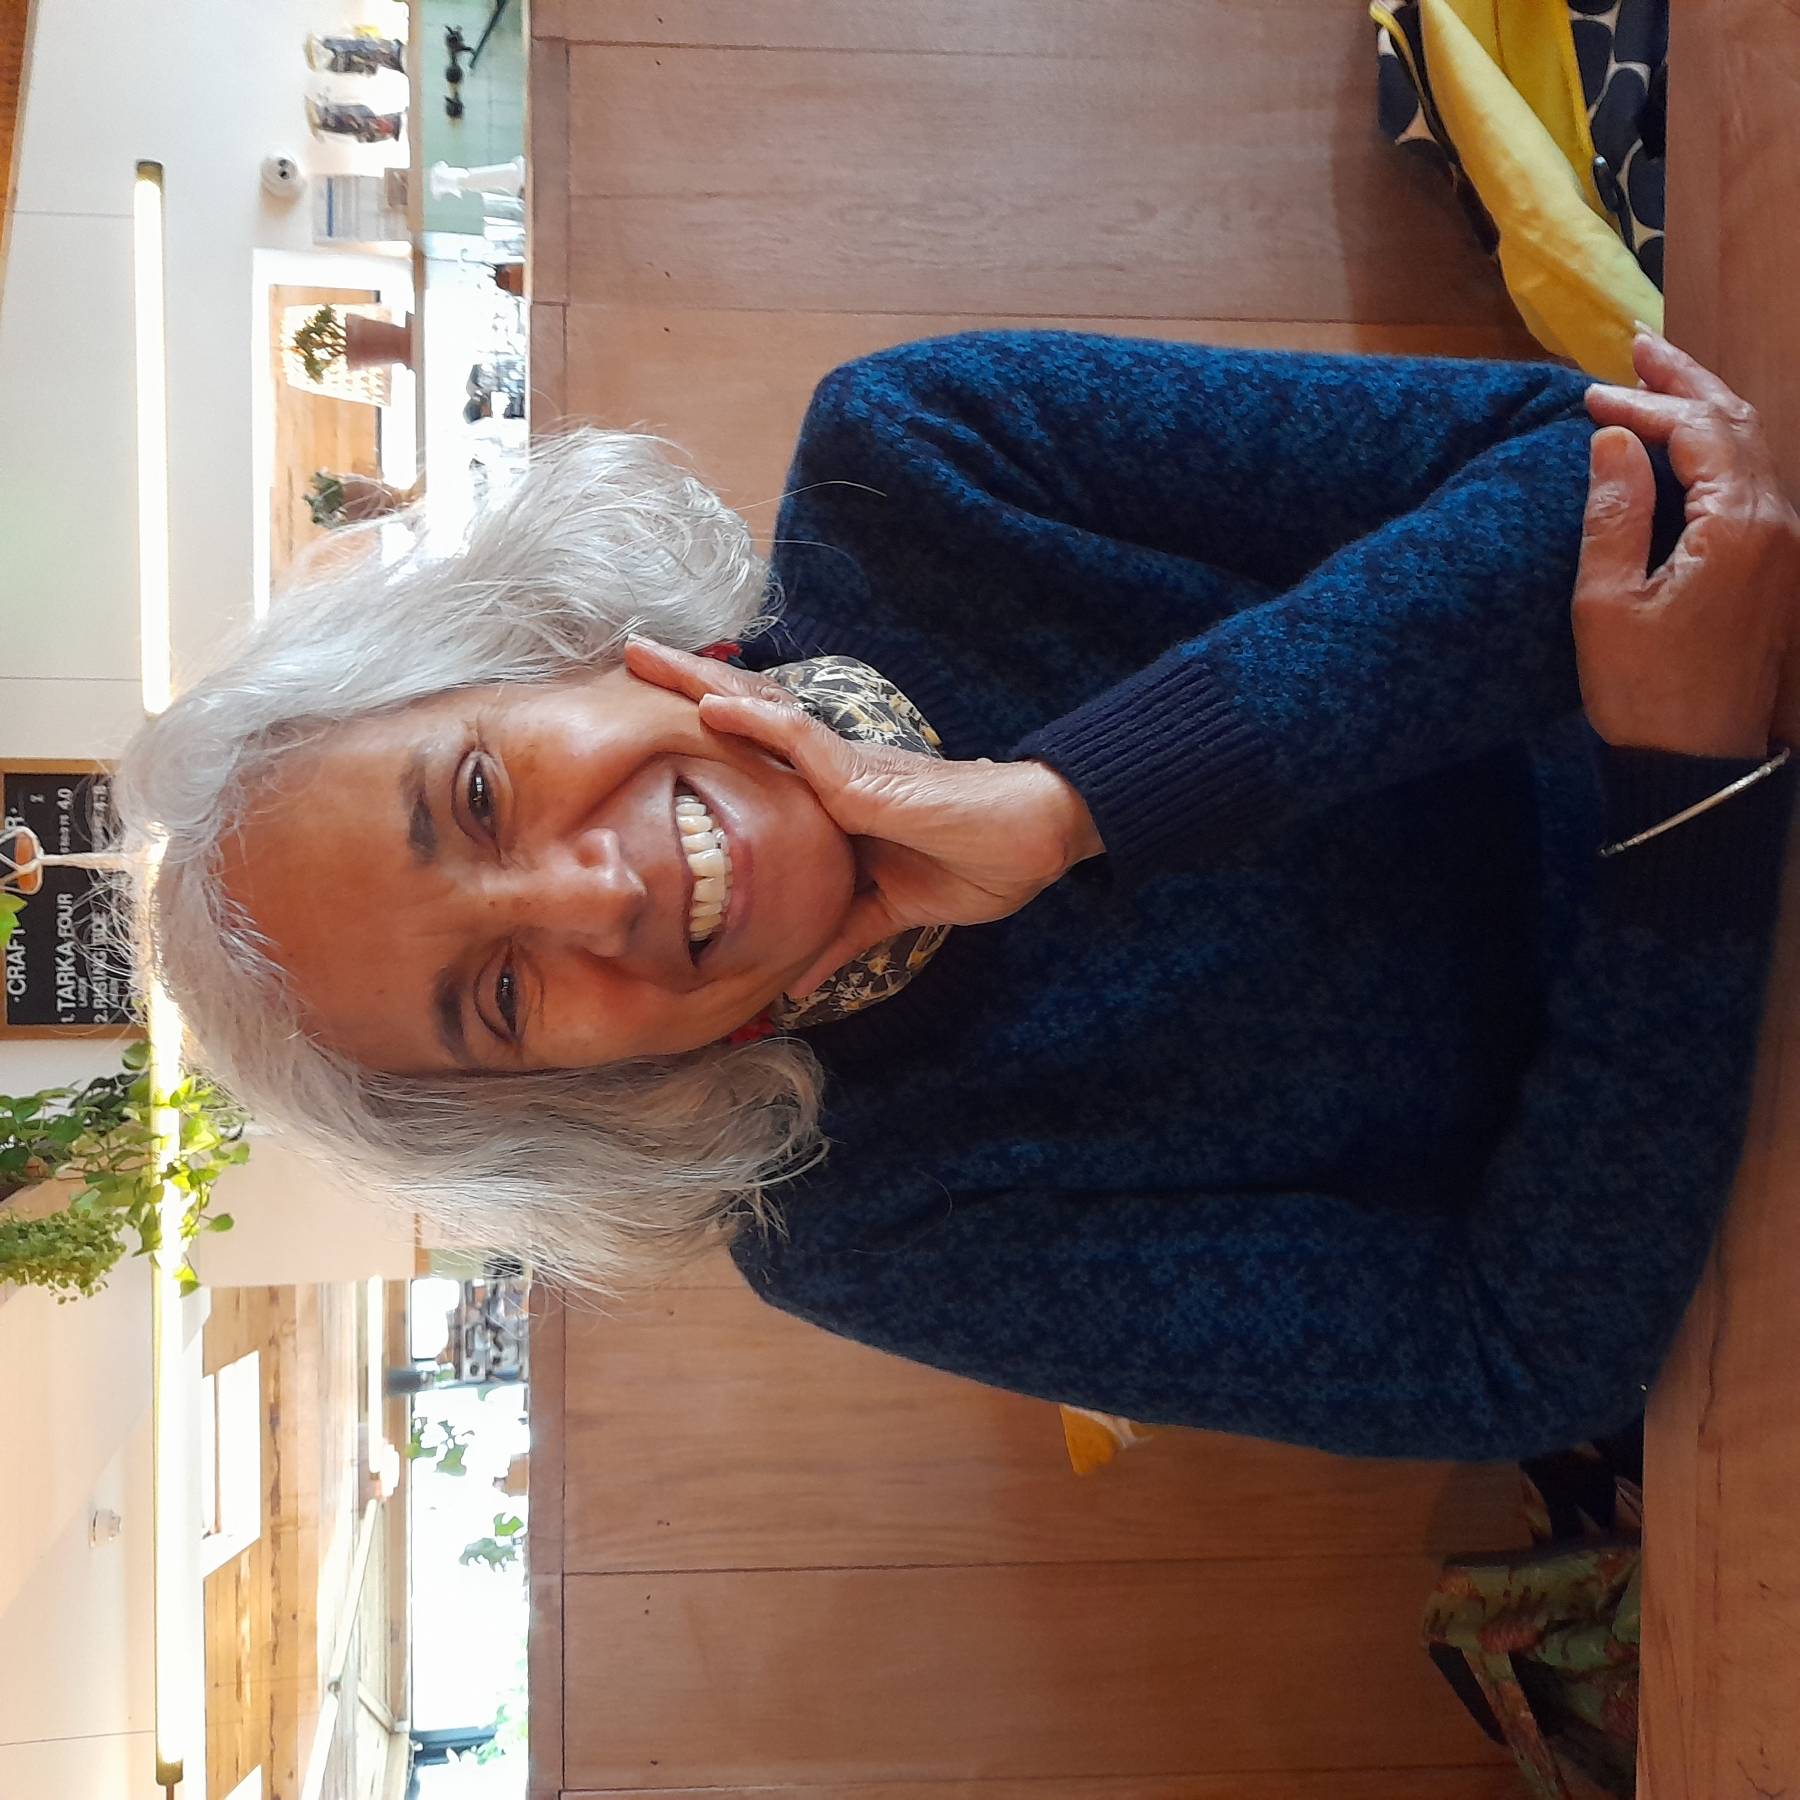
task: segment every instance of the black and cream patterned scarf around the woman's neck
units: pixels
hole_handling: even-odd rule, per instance
[[[859,743],[891,743],[920,756],[943,756],[938,733],[923,713],[868,662],[855,657],[810,657],[763,670],[767,680],[787,688],[799,704],[841,738]],[[783,1031],[799,1031],[875,1006],[898,994],[949,938],[949,925],[920,925],[864,950],[830,981],[801,1001],[781,999],[769,1015]]]

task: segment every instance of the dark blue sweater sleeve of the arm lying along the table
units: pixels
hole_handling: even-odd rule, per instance
[[[1744,765],[1602,752],[1631,835]],[[997,1386],[1352,1454],[1564,1447],[1643,1406],[1730,1192],[1793,778],[1597,866],[1510,1129],[1442,1206],[945,1193],[751,1238],[752,1287]],[[830,1170],[830,1165],[826,1165]]]

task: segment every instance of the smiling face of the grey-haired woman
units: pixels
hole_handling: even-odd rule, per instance
[[[338,727],[252,796],[225,880],[324,1042],[508,1071],[745,1024],[832,940],[855,866],[797,774],[616,668]]]

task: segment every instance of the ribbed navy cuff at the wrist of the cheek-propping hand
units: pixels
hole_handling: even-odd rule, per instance
[[[1022,738],[1087,801],[1116,878],[1224,850],[1276,810],[1273,752],[1195,655],[1139,675]]]

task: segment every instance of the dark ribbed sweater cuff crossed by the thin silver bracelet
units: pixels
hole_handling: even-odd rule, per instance
[[[1717,794],[1760,765],[1600,745],[1606,842],[1616,844]],[[1597,898],[1661,936],[1768,936],[1780,904],[1795,765],[1645,844],[1600,860]]]

